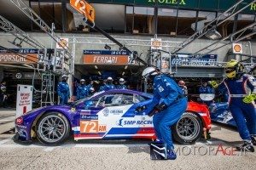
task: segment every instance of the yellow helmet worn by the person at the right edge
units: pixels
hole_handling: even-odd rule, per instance
[[[231,59],[227,65],[225,65],[225,73],[228,78],[235,78],[238,74],[241,74],[244,67],[236,59]]]

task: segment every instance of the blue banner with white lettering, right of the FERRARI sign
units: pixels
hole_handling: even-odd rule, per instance
[[[188,65],[188,66],[216,66],[217,54],[206,54],[200,56],[189,57],[189,54],[177,54],[172,56],[172,65]]]

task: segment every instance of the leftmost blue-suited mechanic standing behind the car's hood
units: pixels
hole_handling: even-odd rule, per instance
[[[57,93],[60,97],[60,105],[66,105],[70,98],[69,86],[67,84],[67,75],[61,77],[62,81],[58,83]]]

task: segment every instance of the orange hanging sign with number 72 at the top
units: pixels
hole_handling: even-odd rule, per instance
[[[70,5],[75,8],[79,13],[83,14],[85,18],[94,23],[95,21],[95,9],[86,3],[84,0],[70,0]]]

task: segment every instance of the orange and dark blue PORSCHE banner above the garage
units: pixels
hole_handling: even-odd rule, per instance
[[[12,54],[7,50],[0,49],[0,63],[2,64],[32,64],[38,62],[38,49],[11,49],[17,53]],[[21,55],[21,56],[20,56]]]

